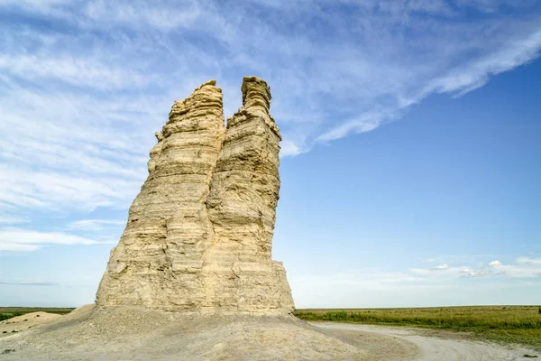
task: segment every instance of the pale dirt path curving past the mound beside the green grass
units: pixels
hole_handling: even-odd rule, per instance
[[[425,329],[404,329],[330,322],[313,322],[311,324],[335,336],[344,335],[345,337],[353,338],[356,334],[358,335],[358,342],[355,346],[362,347],[371,352],[380,350],[381,359],[418,361],[541,359],[541,355],[530,349],[501,347],[487,342],[469,341],[466,339],[430,337],[426,336]],[[394,355],[390,354],[389,357],[385,357],[381,355],[381,352],[385,352],[389,343],[386,343],[385,338],[381,337],[393,338],[395,343],[402,341],[405,344],[410,343],[415,345],[417,347],[417,353],[411,347],[405,347],[404,349],[408,350],[408,355],[397,358],[399,354],[395,353]],[[378,339],[382,342],[378,342]],[[538,356],[539,358],[530,358],[525,355]]]

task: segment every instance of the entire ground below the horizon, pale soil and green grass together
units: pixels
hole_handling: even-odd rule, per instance
[[[195,316],[137,307],[95,311],[94,305],[62,317],[40,312],[69,310],[0,308],[6,317],[24,314],[0,322],[0,354],[21,361],[191,359],[194,355],[251,359],[248,356],[256,354],[265,359],[295,355],[321,360],[404,356],[433,360],[436,355],[442,360],[481,361],[536,357],[536,351],[541,352],[537,322],[541,314],[532,306],[296,310],[298,318],[309,323],[291,315]],[[507,345],[477,342],[486,339]]]

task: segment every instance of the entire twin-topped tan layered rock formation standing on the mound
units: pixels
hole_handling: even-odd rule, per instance
[[[214,80],[175,102],[111,251],[98,306],[293,310],[285,270],[271,260],[281,138],[271,90],[246,77],[242,91],[226,130]]]

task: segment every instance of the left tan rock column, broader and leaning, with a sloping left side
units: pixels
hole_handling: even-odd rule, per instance
[[[195,310],[202,302],[199,272],[212,232],[205,201],[224,134],[222,91],[214,80],[175,102],[111,251],[98,305]]]

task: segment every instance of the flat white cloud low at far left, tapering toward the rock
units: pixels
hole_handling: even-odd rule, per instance
[[[97,245],[98,242],[61,232],[38,232],[20,228],[0,230],[0,251],[35,251],[47,245]]]

